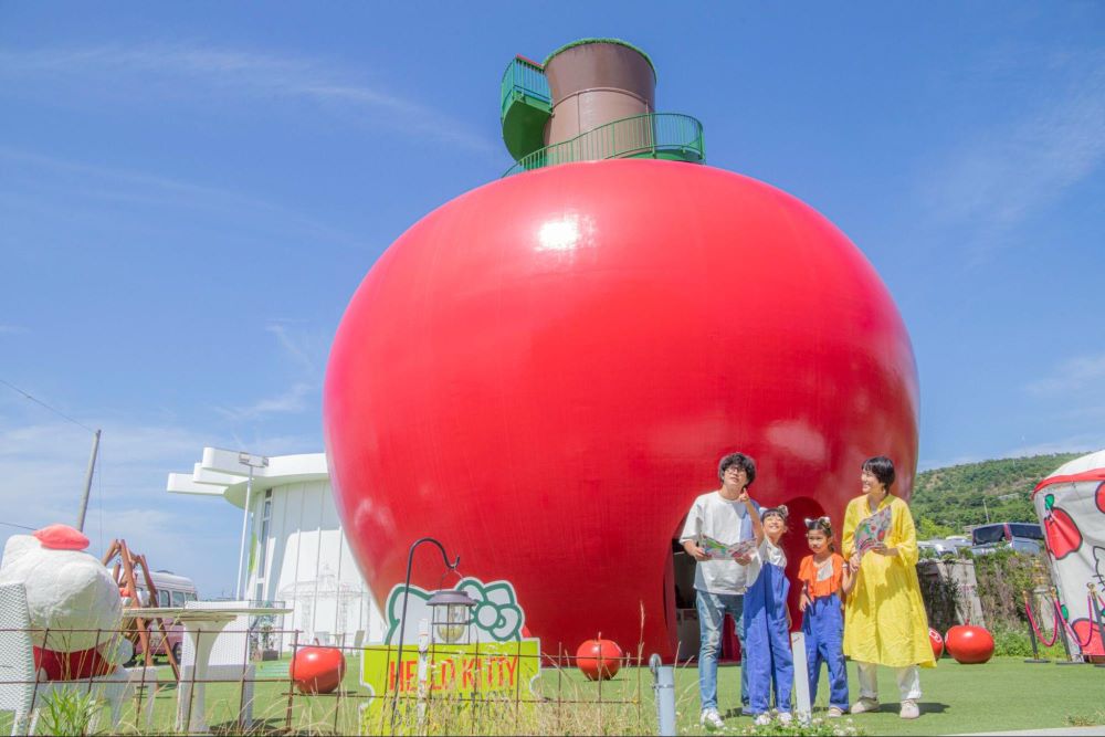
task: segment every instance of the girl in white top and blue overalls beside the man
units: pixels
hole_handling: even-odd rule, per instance
[[[789,724],[790,689],[794,680],[794,659],[790,652],[790,610],[787,594],[787,556],[779,540],[787,531],[787,507],[753,514],[753,530],[758,551],[750,566],[759,566],[759,576],[745,593],[746,653],[741,667],[748,668],[749,709],[757,725],[771,723],[771,685],[775,682],[775,707],[779,720]],[[749,571],[749,577],[753,571]]]

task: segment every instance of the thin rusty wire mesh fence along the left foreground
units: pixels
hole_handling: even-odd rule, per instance
[[[34,642],[63,641],[62,631],[20,632]],[[97,642],[118,643],[133,631],[87,631]],[[396,645],[305,642],[298,631],[276,660],[259,660],[249,630],[190,633],[179,675],[160,657],[124,662],[110,672],[87,671],[74,659],[67,675],[87,677],[48,683],[43,652],[0,651],[0,729],[20,733],[60,702],[59,693],[86,697],[93,717],[76,734],[654,734],[652,676],[640,654],[579,659],[558,647],[540,652],[535,641],[508,643],[418,643]],[[233,650],[222,647],[233,642]],[[245,643],[239,647],[239,643]],[[123,655],[126,649],[122,649]],[[307,651],[307,652],[305,652]],[[119,651],[114,651],[119,656]],[[319,652],[340,653],[344,673],[328,693],[324,668],[311,671]],[[301,657],[297,660],[296,656]],[[9,665],[25,661],[22,677]],[[143,661],[146,660],[145,654]],[[332,660],[334,660],[332,657]],[[231,662],[233,661],[233,662]],[[91,661],[90,661],[91,662]],[[578,667],[613,675],[591,680]],[[612,673],[611,673],[612,672]],[[615,674],[615,675],[614,675]],[[333,674],[329,674],[333,676]],[[322,689],[318,686],[324,686]],[[109,709],[110,720],[102,712]],[[81,715],[76,715],[81,716]],[[82,719],[84,717],[81,717]],[[7,720],[6,720],[7,719]],[[12,719],[21,719],[13,724]],[[42,722],[39,723],[40,731]],[[14,727],[14,729],[13,729]],[[59,727],[54,727],[57,729]]]

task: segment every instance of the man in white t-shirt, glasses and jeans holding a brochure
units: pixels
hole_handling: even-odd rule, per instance
[[[744,504],[745,489],[756,480],[756,462],[744,453],[730,453],[717,467],[722,487],[703,494],[687,513],[680,541],[697,562],[694,572],[695,606],[702,646],[698,651],[698,693],[702,698],[701,724],[708,729],[723,729],[725,723],[717,712],[717,651],[722,643],[722,624],[726,614],[736,622],[741,653],[745,649],[744,602],[748,580],[749,556],[712,560],[702,547],[704,537],[732,546],[754,539],[753,523]],[[757,513],[759,506],[754,502]],[[748,675],[740,667],[741,710],[748,713]]]

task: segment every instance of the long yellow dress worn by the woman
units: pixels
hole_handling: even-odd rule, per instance
[[[855,588],[844,603],[844,654],[854,661],[892,667],[935,667],[928,641],[928,615],[917,581],[917,531],[909,506],[887,494],[878,509],[891,506],[886,547],[896,556],[867,552],[863,556]],[[878,512],[867,505],[867,495],[848,503],[841,547],[844,557],[854,552],[855,526]]]

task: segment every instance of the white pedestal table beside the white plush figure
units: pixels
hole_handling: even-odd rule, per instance
[[[176,620],[183,625],[183,634],[192,643],[196,653],[196,665],[192,677],[183,678],[181,672],[180,685],[177,689],[177,729],[182,729],[185,720],[189,734],[209,731],[203,718],[203,695],[208,678],[208,665],[211,662],[211,649],[228,624],[241,614],[265,615],[287,614],[291,609],[273,609],[269,607],[212,607],[210,609],[191,609],[181,607],[147,607],[141,609],[124,609],[123,615],[129,619],[151,620],[164,618]],[[201,638],[200,634],[203,636]],[[244,653],[243,653],[244,654]],[[179,664],[178,664],[179,665]],[[242,664],[243,667],[246,663]]]

